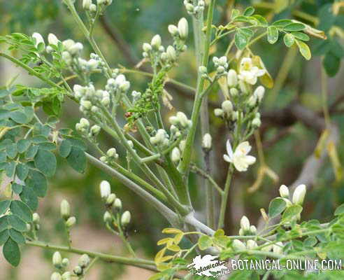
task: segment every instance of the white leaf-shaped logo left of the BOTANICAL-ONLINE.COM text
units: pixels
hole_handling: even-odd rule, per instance
[[[189,272],[199,276],[215,276],[223,269],[228,269],[225,261],[218,260],[213,255],[197,255],[187,266]]]

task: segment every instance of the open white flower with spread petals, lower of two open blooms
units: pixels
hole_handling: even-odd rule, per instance
[[[231,143],[227,140],[227,155],[224,155],[223,158],[225,161],[233,163],[238,172],[245,172],[248,170],[249,165],[253,165],[256,162],[255,157],[248,155],[250,151],[251,146],[248,141],[245,141],[239,144],[233,153]]]

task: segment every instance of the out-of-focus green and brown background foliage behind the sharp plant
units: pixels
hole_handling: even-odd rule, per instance
[[[80,8],[82,1],[77,0],[76,2]],[[113,2],[96,25],[95,30],[96,41],[99,41],[108,62],[113,67],[122,65],[127,69],[133,69],[134,65],[141,59],[143,42],[150,41],[154,34],[161,34],[164,45],[167,45],[171,40],[167,26],[171,23],[175,24],[182,16],[189,19],[182,5],[182,0],[115,0]],[[297,120],[294,122],[287,121],[283,124],[265,120],[273,119],[274,113],[277,118],[279,111],[289,108],[294,102],[298,102],[306,109],[315,112],[317,116],[322,117],[324,104],[321,95],[321,81],[324,81],[322,71],[326,72],[326,80],[328,79],[327,105],[331,113],[331,120],[338,125],[341,139],[343,139],[344,132],[344,106],[341,105],[341,102],[344,101],[344,67],[341,66],[341,60],[344,56],[344,1],[247,0],[235,1],[234,3],[232,0],[218,0],[215,22],[225,25],[234,5],[241,10],[249,5],[255,6],[257,12],[264,15],[269,21],[281,18],[300,20],[323,30],[327,35],[327,40],[311,38],[310,48],[313,52],[313,59],[310,62],[306,62],[296,52],[295,48],[285,48],[282,38],[275,45],[270,45],[264,38],[252,46],[252,52],[261,57],[266,69],[275,80],[275,87],[266,92],[262,113],[263,125],[260,134],[266,165],[279,175],[279,181],[273,181],[268,176],[264,176],[259,189],[254,193],[248,192],[250,186],[257,179],[261,162],[258,162],[250,172],[236,176],[236,183],[232,189],[227,211],[226,230],[229,235],[237,233],[238,228],[235,225],[238,225],[238,220],[243,214],[249,216],[253,223],[257,223],[260,217],[259,209],[268,207],[268,201],[278,194],[280,184],[288,185],[296,180],[306,159],[313,154],[320,138],[319,132]],[[2,0],[0,1],[0,10],[1,35],[12,32],[32,34],[34,31],[38,31],[47,38],[48,34],[52,32],[61,40],[73,38],[75,41],[83,42],[88,47],[88,50],[86,49],[84,52],[85,55],[90,51],[89,45],[80,30],[74,25],[69,11],[66,10],[61,0]],[[220,41],[216,48],[211,50],[212,54],[222,54],[230,40],[231,38],[224,38]],[[196,62],[191,42],[190,38],[186,54],[183,55],[180,65],[172,71],[170,77],[194,86],[196,84]],[[5,46],[0,45],[0,50],[5,50]],[[17,73],[22,73],[20,69],[15,69],[13,65],[3,59],[0,59],[0,70],[1,84],[6,83]],[[143,90],[145,83],[148,82],[148,78],[145,76],[132,73],[127,73],[127,76],[135,90]],[[25,75],[18,77],[17,83],[39,85],[37,80]],[[70,83],[73,85],[77,81],[71,80]],[[99,78],[96,83],[102,85],[103,80]],[[173,97],[172,104],[175,109],[190,113],[192,95],[175,88],[168,90]],[[221,96],[222,94],[218,94],[217,91],[210,95],[211,132],[215,146],[215,161],[217,162],[215,173],[220,186],[223,185],[227,171],[222,162],[226,132],[222,127],[222,122],[213,116],[213,109],[216,104],[220,104]],[[166,120],[170,113],[172,112],[166,111]],[[264,116],[267,117],[264,118]],[[62,126],[73,127],[79,119],[80,113],[76,106],[66,102],[62,112]],[[250,141],[253,143],[255,139],[252,137]],[[101,143],[107,147],[113,145],[109,143],[106,134],[101,135]],[[339,162],[343,162],[344,159],[342,143],[339,141],[336,146]],[[257,155],[257,150],[254,153]],[[199,154],[201,155],[201,153]],[[332,156],[332,160],[334,158],[336,158],[335,154]],[[201,161],[201,158],[195,160]],[[154,255],[157,251],[155,243],[161,237],[160,229],[166,227],[166,221],[161,216],[155,215],[154,209],[133,195],[131,191],[108,178],[99,170],[89,166],[86,174],[80,176],[80,174],[71,171],[63,159],[59,160],[58,172],[50,181],[48,197],[41,202],[39,209],[41,216],[51,223],[49,226],[44,225],[42,227],[41,235],[47,240],[62,239],[62,237],[57,237],[58,232],[59,236],[63,235],[62,225],[60,223],[55,225],[54,223],[58,221],[60,200],[62,197],[68,197],[73,202],[73,211],[78,216],[78,225],[87,225],[88,227],[86,232],[89,235],[86,233],[85,237],[80,237],[86,240],[83,246],[87,245],[88,238],[96,237],[97,235],[92,235],[89,232],[99,231],[103,225],[103,207],[98,193],[99,182],[103,179],[111,181],[113,190],[124,202],[124,208],[134,213],[134,222],[130,230],[134,246],[142,248],[142,254],[146,256]],[[200,181],[197,180],[196,176],[192,176],[191,180],[193,201],[196,204],[196,209],[201,209],[205,203],[203,188],[201,188]],[[344,179],[341,176],[341,166],[331,164],[331,160],[327,158],[320,169],[320,173],[316,176],[312,191],[307,197],[304,218],[318,218],[320,221],[326,222],[332,215],[334,208],[343,202]],[[201,216],[202,213],[199,215]],[[105,230],[103,230],[103,235],[107,235]],[[98,243],[102,242],[105,241],[98,240]],[[105,248],[113,252],[119,251],[118,244],[117,241],[110,249],[108,249],[110,245],[105,246]],[[39,253],[45,256],[47,261],[51,257],[50,252],[40,251]],[[0,266],[5,266],[5,264],[0,262]],[[21,266],[20,269],[22,269]],[[103,269],[101,276],[97,276],[96,279],[130,279],[129,276],[123,278],[125,277],[123,276],[125,274],[122,274],[123,270],[123,267],[110,270]],[[0,279],[24,279],[23,274],[16,269],[9,269],[8,273],[3,273],[3,271],[1,268]],[[48,268],[48,275],[49,272],[50,268]],[[47,273],[42,272],[41,278],[35,279],[47,279]]]

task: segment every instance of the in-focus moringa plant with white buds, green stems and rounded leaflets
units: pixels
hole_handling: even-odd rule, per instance
[[[128,69],[108,64],[94,40],[96,22],[112,0],[96,3],[83,0],[80,13],[85,13],[85,21],[80,18],[74,0],[63,0],[93,49],[89,57],[85,56],[82,43],[70,38],[63,40],[52,33],[48,41],[37,32],[31,36],[14,33],[0,37],[0,41],[9,46],[8,50],[22,55],[18,59],[8,52],[0,52],[0,56],[45,83],[45,87],[38,88],[15,85],[12,80],[0,91],[0,171],[3,181],[8,182],[3,190],[6,198],[0,202],[0,244],[4,258],[11,265],[19,265],[22,244],[55,251],[52,280],[85,279],[98,260],[150,269],[157,272],[150,278],[153,280],[203,279],[208,274],[189,266],[195,255],[210,254],[221,260],[281,262],[343,258],[344,207],[336,210],[336,218],[330,223],[301,222],[306,195],[306,186],[302,183],[293,192],[282,185],[280,197],[271,200],[267,212],[261,205],[263,227],[251,225],[243,216],[238,235],[229,236],[224,232],[233,176],[246,172],[256,162],[251,152],[252,136],[259,139],[259,109],[266,87],[273,87],[264,62],[252,52],[251,46],[266,38],[268,43],[274,44],[282,36],[287,48],[298,48],[305,59],[310,59],[308,35],[324,38],[324,34],[296,20],[268,22],[252,7],[233,8],[229,22],[216,25],[213,20],[215,2],[185,0],[189,17],[167,27],[171,44],[164,45],[165,38],[163,40],[159,34],[153,36],[150,43],[143,43],[139,66],[149,64],[151,72],[144,73],[150,76],[150,83],[141,89],[132,87],[125,76]],[[195,88],[169,78],[171,69],[182,62],[187,45],[192,44],[191,23],[198,69]],[[228,38],[231,40],[224,53],[215,56],[210,52],[219,41]],[[103,77],[103,85],[94,83],[94,75]],[[78,78],[74,85],[71,85],[72,78]],[[168,81],[192,89],[191,115],[177,110],[165,120],[163,113],[173,108],[166,91]],[[223,102],[209,112],[208,95],[212,92],[218,92]],[[74,128],[59,125],[65,102],[78,104],[83,116]],[[210,156],[213,143],[209,114],[224,124],[224,133],[228,134],[227,141],[216,143],[227,150],[223,158],[216,160],[211,160]],[[99,144],[100,133],[111,137],[114,146],[103,148]],[[201,146],[201,151],[197,145]],[[196,153],[201,153],[203,166],[196,162]],[[136,256],[129,238],[131,214],[123,210],[122,201],[111,193],[107,181],[100,183],[104,225],[122,239],[129,256],[74,248],[72,230],[76,217],[71,216],[66,200],[61,203],[66,245],[48,244],[39,239],[41,218],[34,212],[38,208],[38,197],[45,197],[48,180],[55,174],[57,156],[65,158],[70,167],[80,173],[89,162],[122,182],[166,218],[171,227],[162,230],[166,238],[157,241],[162,248],[155,260]],[[224,186],[213,179],[214,165],[227,169]],[[203,179],[204,219],[195,217],[189,192],[190,172]],[[276,176],[271,169],[266,172]],[[220,201],[218,206],[215,200]],[[135,214],[132,216],[135,218]],[[71,267],[68,258],[62,258],[64,252],[81,255],[76,267]],[[207,277],[211,279],[217,273]],[[299,274],[305,279],[335,279],[340,272],[235,270],[232,267],[228,273],[233,279],[268,279],[269,276],[280,279]]]

